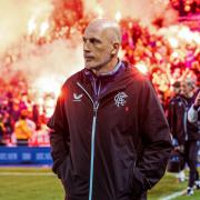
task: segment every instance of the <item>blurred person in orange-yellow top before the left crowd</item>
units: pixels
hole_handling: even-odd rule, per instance
[[[28,146],[28,141],[32,133],[33,132],[30,128],[30,123],[27,121],[27,110],[22,110],[20,119],[14,124],[17,146]]]

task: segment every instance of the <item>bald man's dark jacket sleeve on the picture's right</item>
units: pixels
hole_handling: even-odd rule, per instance
[[[136,169],[141,173],[144,189],[150,189],[164,174],[172,144],[164,112],[149,80],[144,80],[140,97],[142,150]]]

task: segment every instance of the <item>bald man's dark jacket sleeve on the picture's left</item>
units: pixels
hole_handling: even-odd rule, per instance
[[[62,90],[57,100],[56,109],[48,121],[50,128],[51,156],[53,159],[52,170],[59,176],[59,167],[69,153],[69,129],[64,109],[66,92]]]

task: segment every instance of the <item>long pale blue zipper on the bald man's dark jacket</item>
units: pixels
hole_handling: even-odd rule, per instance
[[[90,159],[90,186],[89,186],[89,200],[92,200],[92,187],[93,187],[93,161],[94,161],[94,140],[96,140],[96,127],[97,127],[97,111],[99,108],[99,102],[93,101],[91,96],[88,93],[88,91],[79,83],[77,82],[79,88],[81,88],[84,93],[89,97],[90,101],[93,104],[93,119],[92,119],[92,132],[91,132],[91,159]]]

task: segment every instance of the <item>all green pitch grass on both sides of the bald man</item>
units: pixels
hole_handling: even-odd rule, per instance
[[[167,173],[149,192],[148,200],[159,200],[186,188],[187,182],[179,183],[172,173]],[[176,199],[198,200],[200,191]],[[63,189],[50,169],[0,168],[0,200],[63,200]]]

